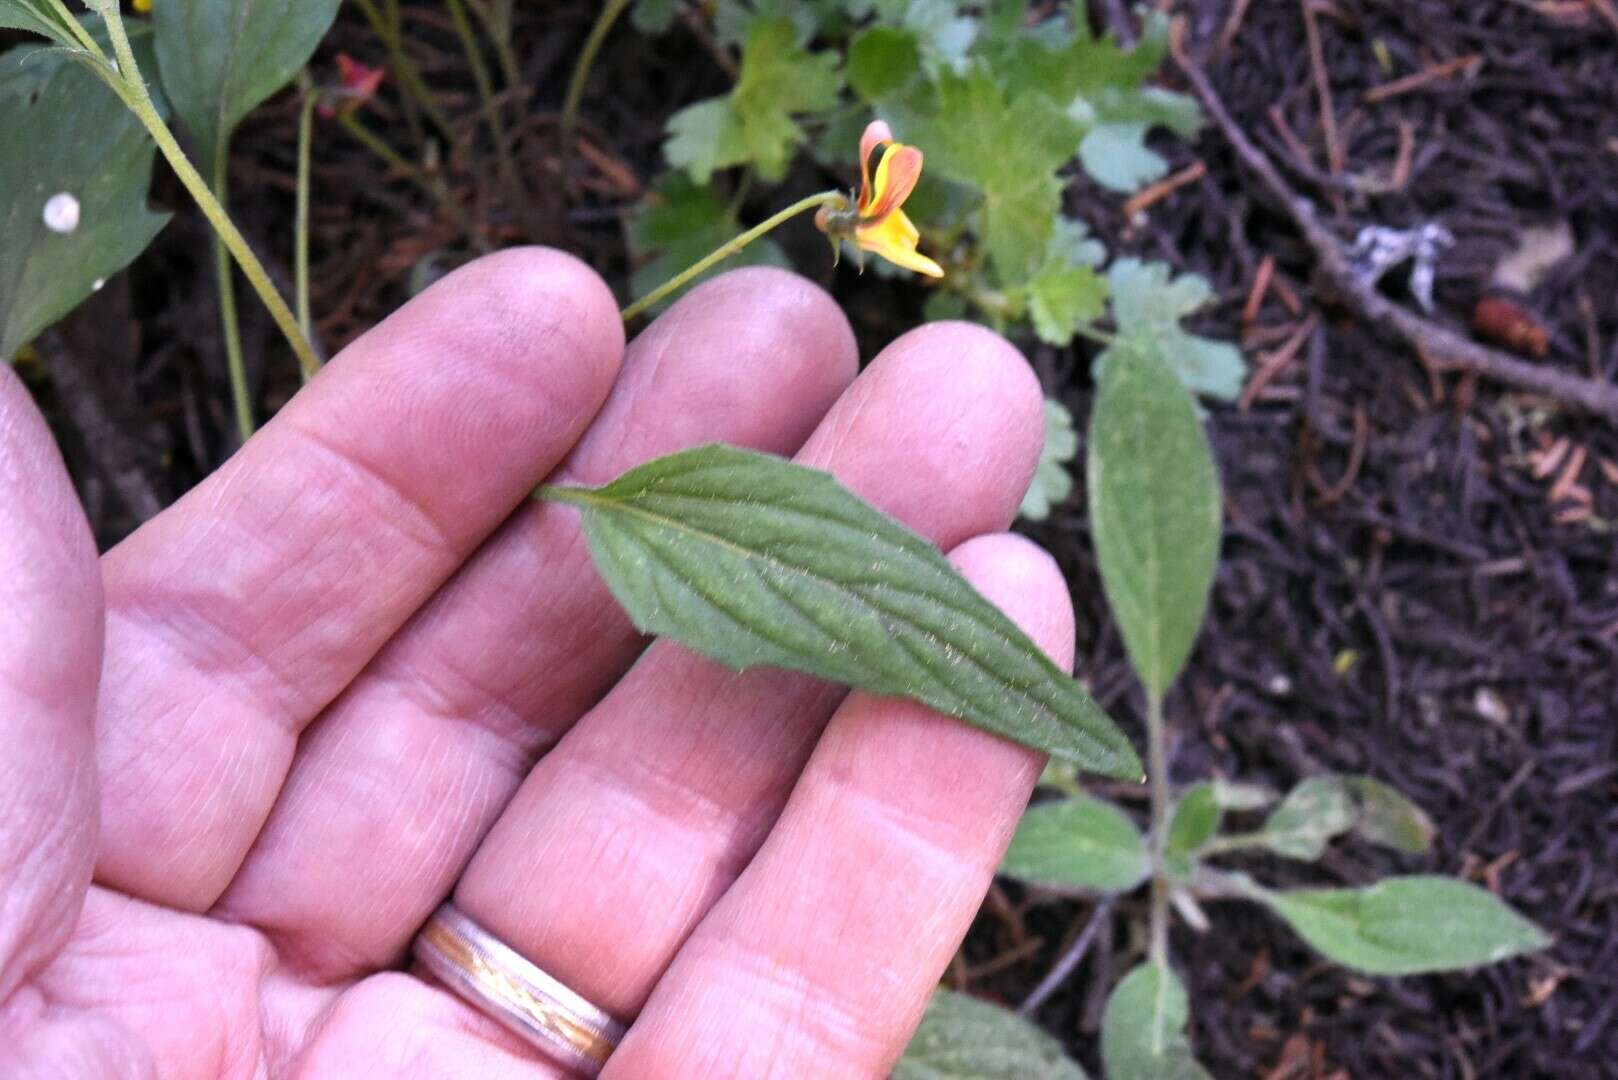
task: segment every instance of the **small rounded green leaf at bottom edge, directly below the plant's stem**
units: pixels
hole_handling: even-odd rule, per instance
[[[1209,1080],[1191,1056],[1186,988],[1167,967],[1142,963],[1113,988],[1102,1014],[1107,1080]]]

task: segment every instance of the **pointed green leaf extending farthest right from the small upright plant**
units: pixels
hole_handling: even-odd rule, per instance
[[[1278,892],[1267,904],[1327,959],[1370,975],[1453,972],[1550,946],[1493,894],[1453,878]]]

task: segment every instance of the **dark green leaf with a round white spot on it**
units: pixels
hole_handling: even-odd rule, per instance
[[[134,115],[65,50],[0,57],[0,359],[126,267],[168,222],[146,209],[157,147]],[[53,196],[78,225],[47,228]]]

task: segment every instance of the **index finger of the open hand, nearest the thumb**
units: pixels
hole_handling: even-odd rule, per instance
[[[621,358],[589,267],[489,256],[110,552],[99,879],[212,905],[299,732],[568,453]]]

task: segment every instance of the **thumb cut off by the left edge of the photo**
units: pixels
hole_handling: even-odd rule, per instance
[[[0,364],[0,1010],[73,931],[95,865],[95,542],[44,418]]]

